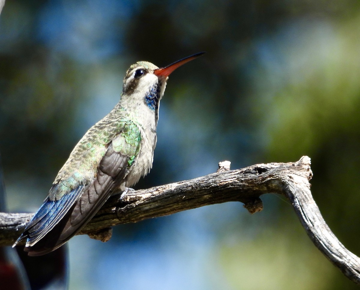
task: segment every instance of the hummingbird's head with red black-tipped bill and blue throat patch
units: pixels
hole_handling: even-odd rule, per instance
[[[137,96],[149,109],[156,111],[164,95],[168,76],[181,65],[204,54],[197,53],[159,68],[149,62],[137,62],[127,70],[123,84],[123,94]]]

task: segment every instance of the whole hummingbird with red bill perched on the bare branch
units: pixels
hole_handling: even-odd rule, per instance
[[[149,173],[168,76],[202,54],[163,68],[145,61],[130,66],[119,103],[76,144],[13,247],[26,240],[24,251],[29,256],[59,248],[90,221],[109,196]]]

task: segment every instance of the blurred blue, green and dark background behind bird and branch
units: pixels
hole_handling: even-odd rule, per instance
[[[11,212],[35,212],[73,146],[117,103],[126,69],[207,54],[174,72],[153,169],[136,188],[230,160],[312,159],[330,228],[360,254],[360,2],[6,1],[0,152]],[[263,196],[114,227],[69,243],[70,289],[355,289],[288,201]]]

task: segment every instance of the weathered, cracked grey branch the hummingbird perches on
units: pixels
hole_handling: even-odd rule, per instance
[[[114,225],[227,201],[240,201],[249,212],[255,213],[262,209],[262,194],[277,193],[291,201],[316,247],[345,276],[360,284],[359,257],[336,238],[312,198],[309,157],[294,163],[256,164],[233,171],[229,171],[229,162],[220,163],[219,167],[216,173],[192,180],[112,196],[79,234],[107,241]],[[0,213],[0,246],[12,245],[32,215]]]

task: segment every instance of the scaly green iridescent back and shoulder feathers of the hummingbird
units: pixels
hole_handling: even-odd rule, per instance
[[[110,142],[114,151],[129,156],[130,167],[140,151],[141,133],[139,125],[131,121],[120,105],[91,127],[77,143],[54,181],[50,200],[58,200],[79,185],[93,180]]]

